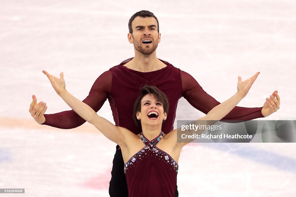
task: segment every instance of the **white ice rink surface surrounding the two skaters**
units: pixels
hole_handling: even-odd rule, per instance
[[[38,125],[32,94],[48,114],[70,108],[42,70],[64,72],[83,100],[96,78],[133,57],[128,20],[140,10],[160,23],[157,57],[190,73],[218,101],[237,76],[260,71],[240,103],[263,106],[274,91],[281,109],[264,120],[296,120],[295,1],[2,1],[0,3],[0,196],[109,196],[115,144],[94,127]],[[112,121],[106,102],[98,112]],[[176,120],[204,114],[179,100]],[[263,120],[263,119],[261,119]],[[175,122],[176,123],[176,122]],[[295,196],[295,143],[191,143],[179,159],[179,196]]]

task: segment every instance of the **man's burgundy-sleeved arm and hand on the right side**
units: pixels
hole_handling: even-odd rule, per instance
[[[184,71],[181,71],[180,74],[183,87],[182,96],[184,96],[192,106],[207,114],[211,109],[220,104],[220,102],[207,94],[191,75]],[[273,98],[266,99],[268,101],[264,103],[263,107],[247,108],[236,106],[221,120],[252,120],[266,117],[279,109],[280,101],[277,91],[274,91],[272,95]]]

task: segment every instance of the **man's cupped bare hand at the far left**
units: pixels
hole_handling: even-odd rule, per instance
[[[44,113],[47,109],[46,103],[43,103],[41,101],[37,104],[37,99],[35,95],[32,96],[32,99],[33,101],[30,104],[29,112],[38,124],[42,124],[45,122]]]

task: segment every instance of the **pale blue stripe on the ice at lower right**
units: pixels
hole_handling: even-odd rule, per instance
[[[284,155],[235,143],[203,143],[202,145],[225,151],[229,154],[235,154],[280,170],[296,173],[296,159]]]

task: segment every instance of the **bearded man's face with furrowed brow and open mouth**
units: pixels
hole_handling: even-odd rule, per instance
[[[129,33],[128,40],[142,54],[152,54],[160,42],[157,32],[157,21],[154,17],[136,17],[132,22],[133,34]]]

